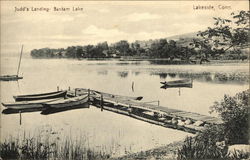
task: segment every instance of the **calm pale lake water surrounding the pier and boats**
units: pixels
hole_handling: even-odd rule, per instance
[[[1,57],[1,74],[16,74],[18,58]],[[247,63],[217,65],[160,65],[149,61],[70,60],[23,58],[18,82],[1,82],[1,102],[13,101],[17,94],[42,93],[71,88],[143,96],[144,102],[209,115],[209,107],[224,94],[235,95],[248,88]],[[193,88],[161,89],[161,81],[193,79]],[[132,89],[132,83],[134,87]],[[1,111],[4,109],[1,106]],[[216,114],[213,114],[216,116]],[[59,136],[87,137],[94,150],[106,148],[113,156],[152,149],[185,138],[188,133],[163,128],[91,106],[52,115],[40,112],[1,114],[1,140],[23,130],[41,128]]]

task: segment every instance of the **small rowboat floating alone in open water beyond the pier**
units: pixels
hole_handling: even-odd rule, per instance
[[[165,81],[160,82],[163,84],[161,88],[181,88],[181,87],[187,87],[192,88],[193,87],[193,81],[190,79],[182,79],[182,80],[175,80],[175,81]]]

